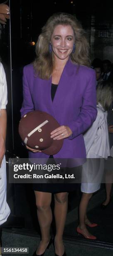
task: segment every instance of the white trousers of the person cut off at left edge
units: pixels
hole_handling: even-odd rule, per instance
[[[6,162],[4,156],[2,165],[0,167],[0,225],[2,225],[7,220],[10,214],[10,208],[6,202],[6,187]]]

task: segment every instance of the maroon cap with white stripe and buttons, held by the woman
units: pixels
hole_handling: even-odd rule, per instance
[[[25,145],[47,155],[54,155],[61,149],[63,140],[53,140],[50,133],[59,126],[52,115],[34,110],[21,118],[19,134]]]

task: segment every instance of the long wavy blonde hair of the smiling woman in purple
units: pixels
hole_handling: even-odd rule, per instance
[[[54,28],[57,25],[70,25],[74,31],[76,50],[70,54],[71,61],[78,65],[89,66],[89,44],[86,32],[74,15],[68,13],[55,13],[42,28],[36,44],[36,58],[34,70],[42,79],[49,79],[54,69],[54,55],[49,52],[49,43]]]

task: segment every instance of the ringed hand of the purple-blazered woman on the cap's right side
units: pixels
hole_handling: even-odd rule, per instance
[[[61,125],[59,128],[56,128],[51,132],[51,138],[54,140],[62,140],[71,136],[72,131],[68,126]]]

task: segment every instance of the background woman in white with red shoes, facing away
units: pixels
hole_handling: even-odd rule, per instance
[[[110,82],[103,81],[97,86],[97,118],[93,125],[84,134],[86,156],[88,161],[83,165],[83,183],[81,184],[81,202],[79,205],[79,226],[77,232],[88,239],[96,236],[88,232],[86,225],[93,228],[96,223],[91,223],[86,215],[88,202],[93,192],[100,189],[103,176],[104,159],[110,155],[107,110],[113,102],[113,86]],[[85,183],[85,178],[87,183]]]

